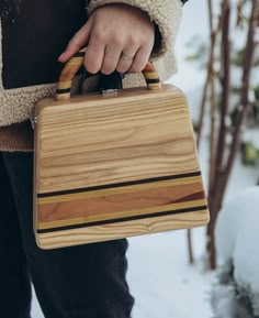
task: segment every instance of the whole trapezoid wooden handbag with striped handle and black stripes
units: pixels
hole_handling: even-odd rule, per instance
[[[34,231],[42,249],[209,222],[187,99],[160,85],[70,98],[83,56],[65,66],[57,98],[35,107]]]

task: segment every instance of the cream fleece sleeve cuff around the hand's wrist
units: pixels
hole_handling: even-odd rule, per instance
[[[109,3],[125,3],[148,13],[160,32],[160,45],[151,55],[154,59],[172,50],[182,15],[180,0],[92,0],[88,13],[91,14],[97,8]]]

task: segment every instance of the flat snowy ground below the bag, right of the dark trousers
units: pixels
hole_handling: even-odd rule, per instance
[[[195,234],[202,239],[203,229]],[[211,314],[207,299],[213,276],[203,273],[199,265],[188,265],[185,237],[185,231],[176,231],[130,240],[128,282],[136,298],[134,318],[193,318]]]

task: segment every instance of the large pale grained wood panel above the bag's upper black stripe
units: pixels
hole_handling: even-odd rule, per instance
[[[185,99],[132,92],[44,105],[37,193],[199,171]]]

